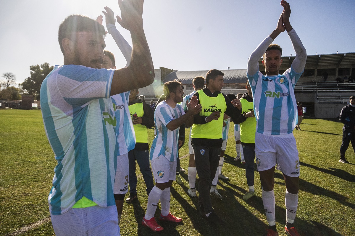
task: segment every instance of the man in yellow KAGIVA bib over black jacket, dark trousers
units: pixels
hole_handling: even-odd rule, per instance
[[[199,212],[214,224],[224,224],[224,220],[212,211],[209,195],[222,150],[223,116],[220,116],[225,113],[237,120],[242,108],[239,100],[230,101],[220,92],[224,86],[223,75],[222,71],[215,69],[207,72],[206,86],[194,94],[202,105],[202,111],[194,116],[191,129],[191,144],[199,178]]]

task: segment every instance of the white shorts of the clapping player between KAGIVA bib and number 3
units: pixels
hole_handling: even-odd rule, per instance
[[[158,156],[154,160],[151,160],[153,176],[155,183],[166,183],[169,180],[176,179],[176,166],[178,160],[169,161],[165,156]]]

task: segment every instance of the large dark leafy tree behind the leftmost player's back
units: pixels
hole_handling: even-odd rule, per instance
[[[30,77],[24,80],[20,84],[23,90],[27,90],[28,94],[33,94],[37,100],[40,100],[40,89],[44,78],[53,70],[53,66],[49,66],[49,63],[45,62],[42,65],[31,65]]]

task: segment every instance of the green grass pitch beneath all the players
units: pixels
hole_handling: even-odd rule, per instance
[[[350,164],[338,162],[342,126],[336,120],[304,119],[303,130],[294,131],[301,163],[295,226],[301,235],[355,234],[355,155],[350,145],[346,152]],[[183,223],[161,223],[164,230],[160,235],[265,235],[267,221],[259,174],[255,172],[256,196],[243,200],[247,184],[244,165],[233,161],[236,156],[233,128],[231,125],[222,169],[230,181],[220,181],[217,186],[223,199],[212,200],[215,211],[227,224],[223,227],[209,225],[198,215],[197,198],[187,195],[189,182],[185,172],[181,174],[183,185],[173,183],[170,208],[172,214],[183,219]],[[148,129],[148,136],[152,142],[152,129]],[[45,136],[40,111],[0,110],[0,150],[0,235],[54,235],[48,219],[47,198],[56,161]],[[189,164],[187,154],[186,137],[185,145],[180,149],[181,166],[186,170]],[[121,235],[155,235],[141,225],[147,207],[142,175],[138,175],[137,190],[138,201],[124,204]],[[274,192],[276,226],[280,236],[284,236],[285,185],[279,171],[275,173]],[[155,216],[159,214],[158,207]],[[43,219],[44,223],[18,232]]]

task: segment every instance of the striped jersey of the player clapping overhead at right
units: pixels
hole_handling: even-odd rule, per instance
[[[260,71],[247,74],[254,99],[256,132],[278,136],[293,132],[298,119],[294,88],[302,73],[297,74],[291,67],[283,75],[264,76]]]

